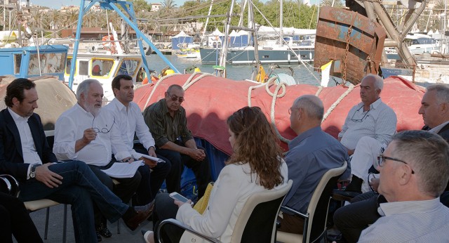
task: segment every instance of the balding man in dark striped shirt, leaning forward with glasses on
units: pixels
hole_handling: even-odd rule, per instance
[[[211,180],[209,162],[204,148],[196,146],[187,128],[186,112],[181,106],[184,100],[184,89],[173,84],[168,87],[165,98],[147,107],[143,116],[156,141],[156,154],[171,162],[166,177],[168,192],[180,192],[181,171],[185,165],[194,171],[200,198]]]

